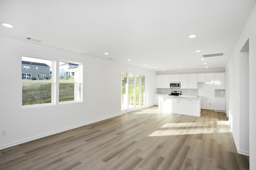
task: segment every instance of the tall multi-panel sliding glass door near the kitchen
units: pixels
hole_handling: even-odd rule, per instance
[[[145,76],[122,73],[121,112],[141,107],[145,103]]]

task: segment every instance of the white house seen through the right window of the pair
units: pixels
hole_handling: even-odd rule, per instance
[[[74,77],[75,78],[75,72],[78,70],[78,64],[72,64],[72,63],[64,63],[60,65],[60,71],[59,71],[59,76],[60,78],[70,78]],[[78,76],[78,75],[76,75]]]

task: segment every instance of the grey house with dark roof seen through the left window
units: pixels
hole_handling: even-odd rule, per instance
[[[44,63],[22,61],[22,80],[50,79],[50,66]]]

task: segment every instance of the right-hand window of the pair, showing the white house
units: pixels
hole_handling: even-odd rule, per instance
[[[70,63],[67,61],[60,62],[59,102],[80,101],[80,86],[80,64]]]

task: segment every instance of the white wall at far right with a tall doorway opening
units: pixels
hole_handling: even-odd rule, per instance
[[[229,69],[229,112],[230,112],[230,127],[236,143],[238,152],[243,154],[250,153],[250,169],[256,169],[256,7],[252,10],[250,17],[240,35],[240,38],[234,48],[234,51],[228,61],[226,70]],[[244,101],[239,101],[240,94],[240,51],[246,41],[249,39],[249,119],[240,121],[242,113],[240,104]],[[241,88],[242,89],[242,88]],[[249,124],[249,139],[241,139],[242,133],[248,133],[246,125]],[[250,147],[246,146],[249,145]],[[244,150],[249,148],[249,150]]]

